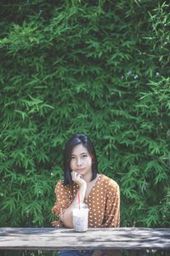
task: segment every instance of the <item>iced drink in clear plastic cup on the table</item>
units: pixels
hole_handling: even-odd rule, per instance
[[[72,210],[73,228],[77,232],[88,230],[88,206],[81,204],[80,207]]]

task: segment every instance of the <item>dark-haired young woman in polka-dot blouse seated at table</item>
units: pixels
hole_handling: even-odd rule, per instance
[[[56,202],[52,212],[59,218],[59,221],[54,221],[53,226],[73,228],[72,210],[77,207],[78,193],[80,201],[87,204],[89,208],[88,227],[119,226],[119,186],[110,177],[98,173],[94,145],[88,136],[76,134],[66,143],[64,181],[59,181],[54,191]],[[59,255],[94,256],[104,254],[99,251],[61,251]]]

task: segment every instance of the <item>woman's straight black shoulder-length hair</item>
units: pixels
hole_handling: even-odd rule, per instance
[[[92,157],[92,180],[97,177],[98,162],[95,153],[94,144],[90,141],[89,137],[84,134],[74,134],[68,142],[65,144],[64,156],[63,156],[63,167],[64,167],[64,185],[72,185],[73,181],[71,178],[71,153],[74,147],[82,144],[83,147],[88,149],[88,153]]]

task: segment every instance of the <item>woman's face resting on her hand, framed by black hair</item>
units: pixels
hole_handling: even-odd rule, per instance
[[[92,157],[88,149],[78,144],[71,153],[71,171],[78,172],[82,177],[92,177]]]

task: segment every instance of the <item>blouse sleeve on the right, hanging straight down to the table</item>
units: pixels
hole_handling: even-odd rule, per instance
[[[111,181],[106,195],[105,223],[103,227],[119,227],[120,225],[120,190],[115,181]]]

